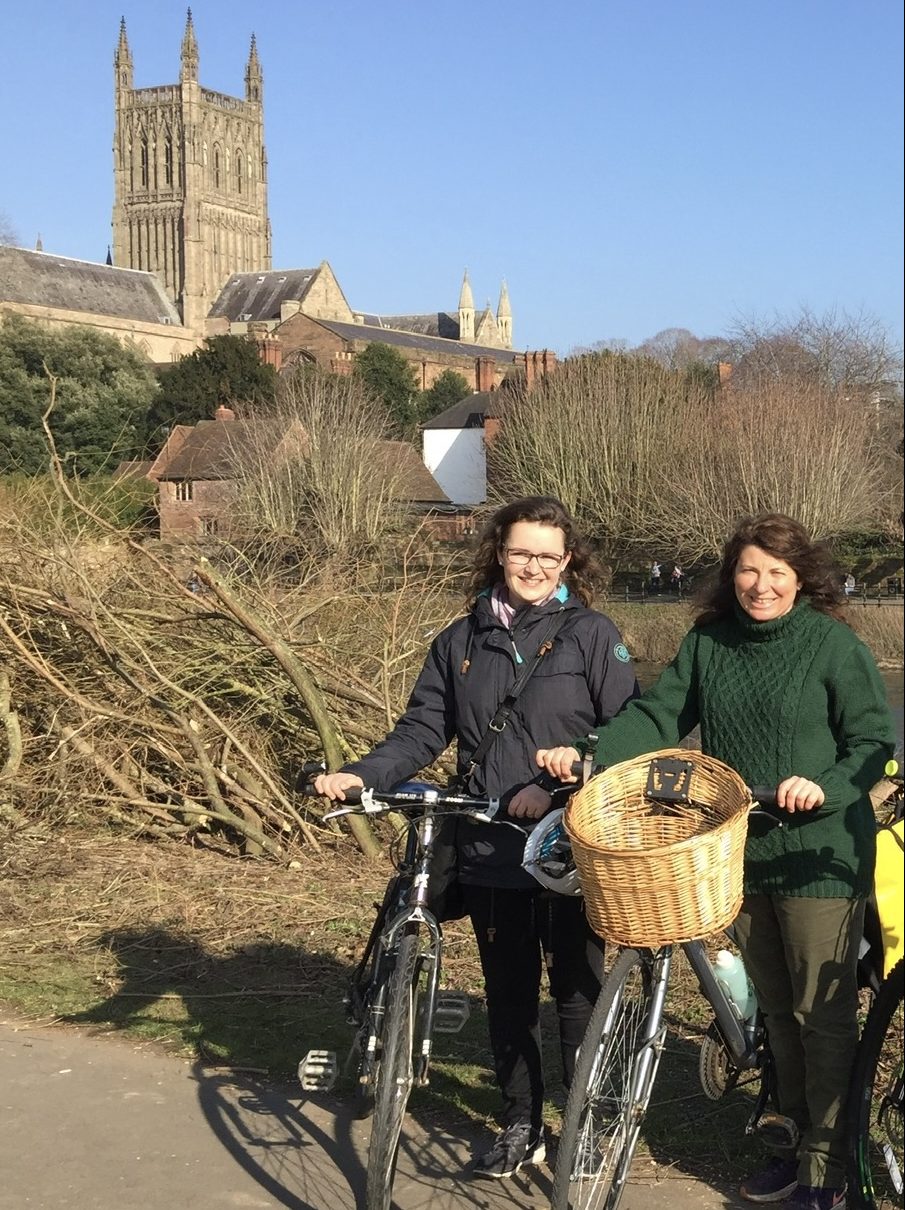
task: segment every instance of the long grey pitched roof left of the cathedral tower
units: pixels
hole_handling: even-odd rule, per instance
[[[29,248],[0,247],[0,302],[181,327],[154,273]]]

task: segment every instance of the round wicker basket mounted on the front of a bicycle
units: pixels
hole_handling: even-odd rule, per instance
[[[687,802],[646,795],[651,762],[663,757],[692,762]],[[656,949],[725,928],[742,904],[750,806],[738,773],[684,748],[593,777],[572,795],[564,824],[594,932]]]

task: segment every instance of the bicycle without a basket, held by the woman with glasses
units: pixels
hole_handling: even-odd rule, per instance
[[[307,770],[306,772],[311,772]],[[309,788],[307,793],[315,793]],[[324,819],[361,813],[402,812],[408,817],[405,847],[356,967],[346,1008],[358,1055],[354,1113],[373,1116],[368,1148],[367,1210],[388,1210],[409,1095],[428,1083],[434,1032],[457,1032],[468,1016],[463,995],[442,993],[443,930],[430,906],[431,859],[437,819],[455,812],[484,823],[495,820],[498,799],[407,783],[392,791],[346,790],[345,805]]]

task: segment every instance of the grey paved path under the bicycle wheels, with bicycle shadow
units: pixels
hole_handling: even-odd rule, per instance
[[[356,1210],[367,1123],[253,1073],[181,1061],[120,1036],[0,1009],[0,1210]],[[463,1175],[486,1136],[404,1135],[399,1210],[547,1206],[551,1172]],[[738,1210],[681,1174],[639,1171],[621,1210]]]

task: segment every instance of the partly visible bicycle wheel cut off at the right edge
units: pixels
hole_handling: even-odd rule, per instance
[[[905,960],[883,980],[864,1024],[852,1070],[848,1116],[853,1210],[901,1210],[903,1001]]]

